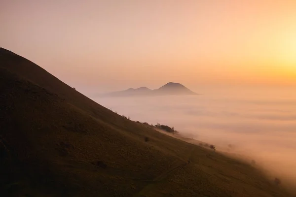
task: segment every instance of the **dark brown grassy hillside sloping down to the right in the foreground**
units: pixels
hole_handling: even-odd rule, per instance
[[[249,164],[130,121],[0,48],[0,195],[290,197]]]

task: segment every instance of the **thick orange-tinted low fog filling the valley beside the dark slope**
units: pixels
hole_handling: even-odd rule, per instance
[[[218,151],[255,160],[282,182],[296,183],[293,89],[218,90],[196,91],[200,96],[93,99],[131,120],[174,126],[181,134],[215,144]]]

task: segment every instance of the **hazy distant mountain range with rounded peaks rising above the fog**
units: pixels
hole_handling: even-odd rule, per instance
[[[104,96],[128,97],[128,96],[157,96],[157,95],[197,95],[180,83],[169,82],[158,89],[151,90],[147,87],[129,88],[124,91],[111,92]]]

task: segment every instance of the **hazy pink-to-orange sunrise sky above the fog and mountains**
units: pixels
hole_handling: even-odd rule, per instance
[[[0,47],[84,91],[296,86],[295,13],[295,0],[0,0]]]

